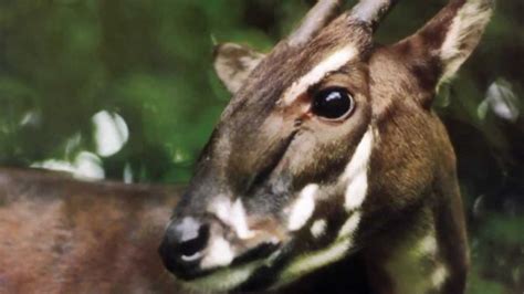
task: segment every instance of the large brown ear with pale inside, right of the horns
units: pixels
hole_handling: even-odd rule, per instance
[[[494,0],[451,0],[421,30],[396,44],[427,86],[451,78],[480,42]],[[428,80],[429,77],[429,80]]]

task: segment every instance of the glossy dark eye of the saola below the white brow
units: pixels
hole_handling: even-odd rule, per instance
[[[354,108],[352,94],[343,87],[329,87],[315,93],[313,97],[313,114],[327,118],[338,119],[346,117]]]

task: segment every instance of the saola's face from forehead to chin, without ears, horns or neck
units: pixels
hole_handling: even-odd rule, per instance
[[[292,279],[303,271],[303,254],[322,252],[337,239],[349,249],[353,229],[338,235],[353,214],[345,210],[345,195],[352,178],[366,185],[373,134],[365,61],[370,43],[365,30],[345,18],[311,46],[280,44],[223,113],[172,227],[184,230],[177,225],[187,218],[209,227],[209,255],[198,259],[188,279],[198,277],[201,269],[232,264],[245,276],[232,286],[272,266]],[[221,50],[231,50],[226,46]],[[348,165],[356,153],[360,158]],[[358,207],[365,189],[349,191],[347,204]],[[292,264],[297,270],[285,270]],[[231,283],[230,277],[200,280],[231,286],[220,285]]]

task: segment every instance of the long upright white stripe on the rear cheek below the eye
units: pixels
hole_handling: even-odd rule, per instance
[[[367,195],[367,169],[371,158],[374,132],[371,127],[364,134],[360,143],[346,167],[342,179],[348,182],[345,195],[346,211],[354,211],[364,203]]]

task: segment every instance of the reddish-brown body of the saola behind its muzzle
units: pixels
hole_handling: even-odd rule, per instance
[[[157,248],[175,188],[0,170],[0,293],[177,293]]]

